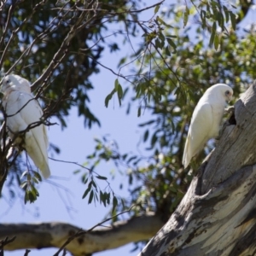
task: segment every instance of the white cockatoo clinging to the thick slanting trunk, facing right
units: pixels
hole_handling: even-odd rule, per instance
[[[183,166],[204,148],[212,137],[218,137],[226,102],[230,102],[233,90],[227,84],[214,84],[206,90],[197,103],[189,126],[183,152]]]

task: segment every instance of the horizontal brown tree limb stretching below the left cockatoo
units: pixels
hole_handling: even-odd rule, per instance
[[[163,224],[157,216],[131,218],[119,221],[109,228],[98,228],[79,236],[66,248],[76,256],[105,251],[132,241],[147,240],[154,236]],[[65,223],[0,224],[0,241],[6,236],[16,236],[15,241],[4,247],[5,250],[61,247],[79,230],[78,227]]]

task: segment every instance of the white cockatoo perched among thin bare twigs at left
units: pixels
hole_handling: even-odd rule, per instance
[[[43,110],[38,101],[32,96],[30,83],[18,75],[8,75],[3,79],[3,108],[7,115],[6,125],[9,137],[14,138],[15,133],[26,130],[28,125],[40,121]],[[15,139],[16,144],[21,143],[20,137]],[[27,154],[38,166],[44,178],[49,177],[48,164],[48,137],[45,125],[38,125],[24,135],[24,144]]]

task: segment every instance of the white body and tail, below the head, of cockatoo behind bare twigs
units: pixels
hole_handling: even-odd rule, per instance
[[[38,101],[31,94],[18,90],[9,94],[8,101],[3,102],[3,107],[8,116],[7,126],[11,133],[10,137],[14,137],[15,132],[26,130],[28,125],[38,122],[43,116]],[[44,178],[50,175],[47,148],[48,137],[44,125],[38,125],[25,133],[26,152]]]

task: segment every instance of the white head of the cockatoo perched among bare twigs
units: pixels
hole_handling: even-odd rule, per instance
[[[20,90],[26,93],[31,93],[30,83],[18,75],[8,75],[3,79],[2,88],[3,93],[9,93],[12,90]]]

